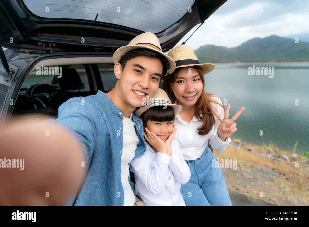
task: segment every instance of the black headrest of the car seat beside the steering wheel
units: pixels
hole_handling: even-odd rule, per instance
[[[59,78],[59,86],[62,90],[77,90],[83,89],[84,84],[75,68],[64,68]]]

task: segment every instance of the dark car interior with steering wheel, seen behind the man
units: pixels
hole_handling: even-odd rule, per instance
[[[61,76],[30,72],[19,90],[13,114],[41,113],[57,118],[59,106],[66,100],[110,91],[116,84],[113,64],[69,64],[61,67]],[[45,73],[47,74],[47,73]],[[104,83],[104,87],[103,87]]]

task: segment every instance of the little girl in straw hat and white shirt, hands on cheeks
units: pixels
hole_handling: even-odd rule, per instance
[[[132,160],[135,193],[145,205],[185,205],[181,184],[190,179],[190,168],[184,161],[173,124],[181,110],[173,105],[165,91],[158,89],[154,99],[139,108],[135,115],[144,124],[146,151]]]

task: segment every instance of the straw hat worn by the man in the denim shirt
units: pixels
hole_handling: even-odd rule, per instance
[[[126,54],[127,52],[129,52],[133,49],[138,49],[138,48],[147,48],[147,49],[150,49],[150,50],[153,50],[155,52],[162,54],[167,59],[167,61],[169,62],[170,66],[171,66],[171,71],[169,73],[174,72],[174,70],[176,68],[176,64],[175,64],[174,60],[171,59],[170,56],[168,56],[167,54],[164,54],[162,52],[162,48],[161,48],[158,37],[151,32],[142,33],[142,34],[134,37],[129,42],[128,45],[123,46],[123,47],[119,47],[113,54],[114,63],[115,64],[118,63],[119,60],[121,59],[122,55]]]

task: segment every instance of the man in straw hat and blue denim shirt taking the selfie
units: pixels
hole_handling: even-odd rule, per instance
[[[67,135],[57,138],[57,141],[51,137],[42,138],[49,147],[33,145],[36,151],[41,148],[52,152],[56,150],[55,155],[61,154],[57,161],[53,153],[49,153],[49,158],[56,162],[53,167],[64,169],[63,160],[74,159],[74,163],[68,162],[74,168],[66,167],[69,172],[49,172],[54,184],[60,181],[66,184],[63,178],[73,175],[74,169],[78,172],[73,177],[76,185],[81,173],[88,170],[82,187],[75,189],[66,205],[133,205],[139,202],[130,184],[129,165],[131,160],[144,154],[146,144],[142,121],[134,115],[134,110],[155,95],[161,78],[173,72],[176,64],[162,52],[159,39],[150,32],[138,35],[127,46],[118,48],[113,54],[113,61],[118,80],[110,92],[98,91],[96,95],[71,98],[59,107],[56,120],[49,119],[38,124],[41,130],[45,127],[44,133],[48,131],[49,135],[61,132],[70,133],[72,137]],[[72,156],[74,151],[70,148],[68,151],[68,146],[65,149],[61,147],[61,144],[66,144],[67,138],[78,138],[72,142],[78,158]],[[41,156],[44,159],[44,155]],[[78,162],[80,167],[77,167]],[[45,187],[48,181],[43,179],[39,186]],[[60,195],[61,189],[66,190],[66,187],[58,187],[55,193]]]

